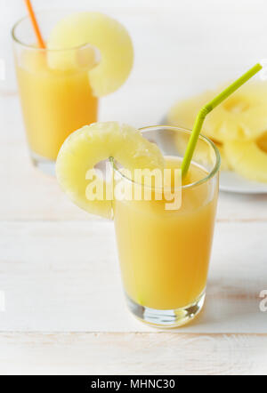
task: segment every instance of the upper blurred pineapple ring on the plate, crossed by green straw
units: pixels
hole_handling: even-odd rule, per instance
[[[168,114],[168,122],[191,129],[199,109],[216,94],[205,92],[176,103]],[[206,116],[202,133],[219,142],[256,140],[267,129],[266,114],[267,83],[246,84]]]

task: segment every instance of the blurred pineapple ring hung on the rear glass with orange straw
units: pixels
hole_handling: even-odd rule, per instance
[[[100,12],[75,12],[59,21],[48,39],[47,48],[69,49],[90,44],[101,52],[98,65],[90,69],[93,93],[101,97],[115,92],[129,76],[134,48],[126,29],[117,20]],[[77,52],[48,52],[50,68],[68,69],[77,63]]]

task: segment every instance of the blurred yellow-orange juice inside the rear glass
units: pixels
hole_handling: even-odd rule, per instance
[[[54,161],[71,132],[97,121],[88,69],[50,69],[46,53],[35,50],[22,52],[16,62],[29,148]]]

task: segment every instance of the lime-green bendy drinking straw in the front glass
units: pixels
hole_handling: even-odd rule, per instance
[[[239,87],[242,86],[242,84],[246,84],[246,82],[250,78],[252,78],[252,76],[255,76],[255,74],[257,74],[261,69],[263,69],[263,66],[261,64],[256,64],[255,67],[249,69],[246,74],[239,77],[238,80],[236,80],[233,84],[223,90],[223,92],[218,94],[213,100],[208,102],[203,108],[199,110],[198,116],[193,126],[188,146],[185,151],[185,155],[182,160],[182,177],[184,177],[189,170],[190,162],[198,143],[198,136],[206,118],[206,115],[208,115],[214,108],[216,108],[224,100],[226,100],[233,92],[236,92]]]

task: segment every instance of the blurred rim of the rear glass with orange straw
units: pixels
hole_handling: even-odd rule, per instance
[[[60,10],[54,10],[53,12],[59,12]],[[61,11],[66,11],[66,10],[61,10]],[[69,11],[69,10],[68,10]],[[47,11],[41,11],[41,12],[36,12],[36,15],[39,14],[44,14],[44,13],[49,13],[52,12],[52,10],[47,10]],[[77,46],[71,46],[69,48],[64,48],[64,49],[48,49],[48,48],[39,48],[38,46],[35,46],[34,44],[26,44],[23,43],[20,38],[17,36],[16,34],[16,28],[18,28],[20,26],[20,24],[25,21],[25,20],[30,20],[29,16],[23,16],[22,18],[20,18],[20,20],[17,20],[11,30],[11,35],[12,35],[12,40],[16,43],[16,44],[20,44],[21,46],[23,46],[24,48],[27,49],[32,49],[35,51],[40,51],[40,52],[67,52],[67,51],[77,51],[79,49],[83,49],[86,48],[88,46],[90,46],[94,51],[97,51],[97,48],[95,48],[93,45],[89,44],[89,43],[85,43],[85,44],[81,44],[81,45],[77,45]]]

